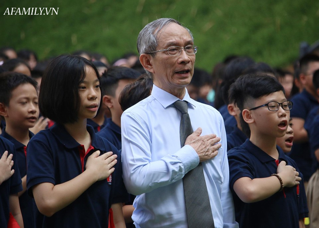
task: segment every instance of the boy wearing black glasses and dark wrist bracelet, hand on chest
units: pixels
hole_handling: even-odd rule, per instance
[[[295,162],[276,146],[286,134],[292,102],[271,76],[240,76],[230,98],[241,110],[250,138],[228,152],[230,189],[242,228],[304,228],[306,195]]]

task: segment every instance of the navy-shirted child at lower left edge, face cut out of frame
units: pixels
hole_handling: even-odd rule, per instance
[[[16,160],[16,149],[9,140],[0,136],[0,227],[6,228],[13,219],[23,228],[18,192],[22,191],[21,177]],[[8,155],[9,154],[9,155]],[[12,170],[11,170],[12,168]],[[9,214],[10,213],[10,214]],[[13,216],[13,218],[12,218]]]

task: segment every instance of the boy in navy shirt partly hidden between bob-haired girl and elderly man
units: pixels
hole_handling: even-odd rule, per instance
[[[124,87],[134,82],[140,75],[141,73],[131,68],[113,67],[101,77],[101,88],[104,92],[103,103],[111,111],[112,120],[109,120],[106,127],[99,132],[99,136],[106,138],[118,150],[122,149],[121,115],[123,113],[119,96]]]

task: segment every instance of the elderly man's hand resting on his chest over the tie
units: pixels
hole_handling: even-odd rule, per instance
[[[215,134],[208,134],[200,136],[202,128],[198,127],[192,134],[190,134],[185,141],[185,145],[189,145],[197,152],[199,162],[203,162],[215,157],[218,149],[221,147],[219,137]]]

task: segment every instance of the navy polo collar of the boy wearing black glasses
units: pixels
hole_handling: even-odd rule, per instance
[[[244,144],[242,145],[244,148],[247,148],[247,151],[253,154],[255,157],[257,157],[258,160],[260,160],[263,163],[275,161],[273,157],[269,156],[266,152],[261,150],[259,147],[257,147],[255,144],[253,144],[249,139],[247,139]],[[280,147],[276,147],[277,151],[279,153],[278,160],[280,161],[286,161],[288,164],[288,161],[286,159],[286,155],[283,152],[283,150]]]

